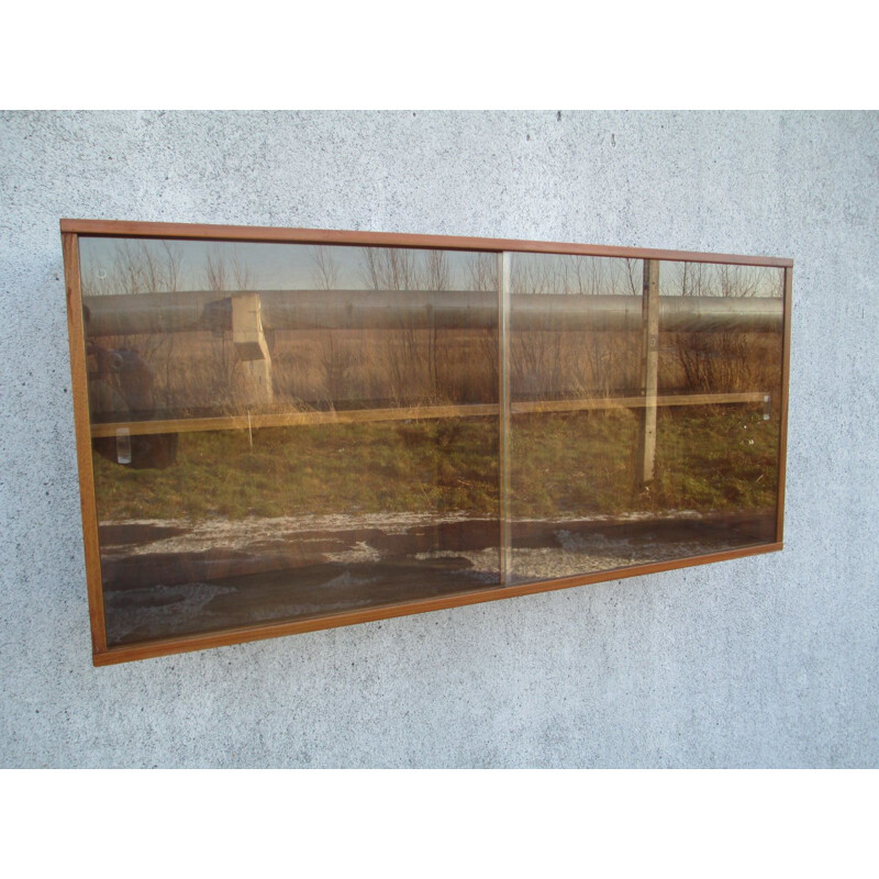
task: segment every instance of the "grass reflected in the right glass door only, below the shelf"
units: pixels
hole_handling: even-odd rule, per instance
[[[778,423],[754,407],[694,407],[657,419],[655,478],[637,482],[631,410],[513,420],[514,519],[726,512],[775,503]]]

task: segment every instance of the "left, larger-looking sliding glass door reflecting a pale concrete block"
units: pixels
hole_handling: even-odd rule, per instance
[[[80,259],[111,646],[499,582],[496,256]]]

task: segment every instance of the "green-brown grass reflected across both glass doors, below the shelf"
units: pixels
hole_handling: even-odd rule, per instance
[[[635,482],[631,410],[516,415],[514,519],[774,507],[778,420],[757,407],[660,410],[656,478]],[[499,511],[496,419],[181,434],[165,469],[93,455],[99,520]]]

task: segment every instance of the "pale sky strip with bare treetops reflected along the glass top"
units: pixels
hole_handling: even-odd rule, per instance
[[[496,290],[497,255],[348,245],[80,238],[86,296],[165,290]],[[641,296],[641,259],[516,254],[514,293]],[[782,294],[777,268],[661,262],[661,296]]]

